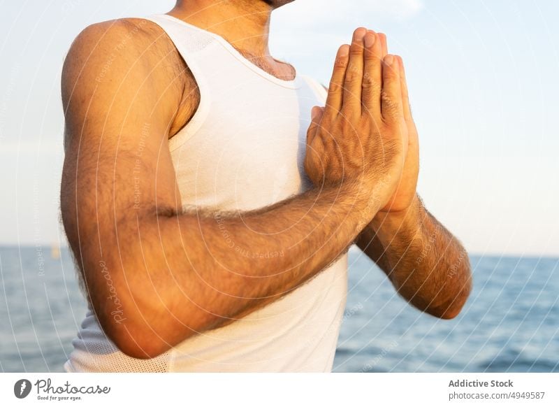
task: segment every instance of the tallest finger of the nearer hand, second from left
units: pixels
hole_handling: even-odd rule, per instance
[[[349,64],[345,71],[344,115],[361,116],[361,83],[363,81],[363,36],[367,29],[360,27],[354,31],[349,47]]]

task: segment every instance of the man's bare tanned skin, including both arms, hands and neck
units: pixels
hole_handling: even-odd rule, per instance
[[[290,79],[293,68],[268,52],[270,12],[282,3],[179,1],[170,15]],[[356,241],[414,306],[437,317],[459,312],[469,265],[456,262],[463,248],[416,197],[403,64],[385,55],[383,41],[360,28],[337,52],[328,101],[313,109],[307,132],[305,169],[315,187],[259,210],[216,213],[182,208],[168,138],[200,96],[164,31],[124,19],[76,38],[62,74],[62,219],[89,301],[122,352],[155,357],[234,322],[300,287]],[[285,255],[239,255],[224,229],[252,252]]]

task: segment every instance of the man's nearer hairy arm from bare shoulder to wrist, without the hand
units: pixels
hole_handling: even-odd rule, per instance
[[[174,48],[162,52],[164,36],[141,24],[96,24],[68,53],[61,210],[101,327],[145,358],[305,283],[378,208],[348,181],[249,213],[183,210],[167,141],[184,76],[169,68]]]

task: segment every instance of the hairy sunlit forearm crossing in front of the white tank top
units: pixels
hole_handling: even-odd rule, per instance
[[[106,325],[115,330],[113,337],[150,332],[153,350],[146,353],[152,356],[233,322],[296,289],[344,253],[367,204],[359,194],[331,188],[244,214],[146,215],[120,222],[119,246],[126,249],[112,264],[130,317]]]

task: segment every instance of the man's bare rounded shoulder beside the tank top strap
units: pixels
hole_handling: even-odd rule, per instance
[[[178,122],[187,120],[197,106],[196,83],[159,25],[141,18],[123,18],[92,24],[80,32],[62,69],[65,110],[72,100],[81,103],[94,93],[99,99],[101,94],[112,97],[122,90],[140,89],[150,100],[169,99]],[[172,127],[182,125],[174,122]]]

